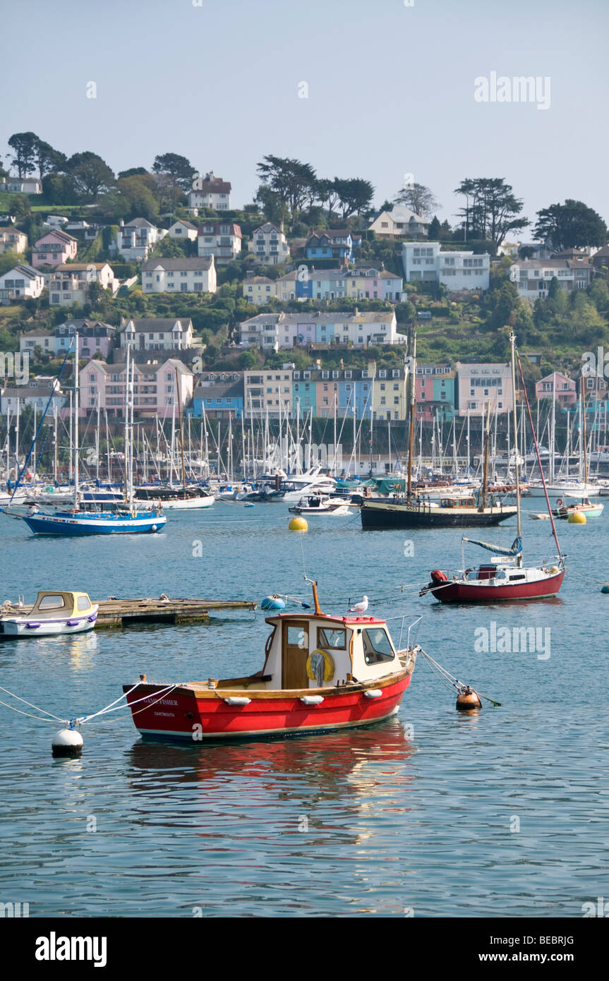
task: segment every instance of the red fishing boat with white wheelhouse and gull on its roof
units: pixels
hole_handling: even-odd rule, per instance
[[[417,645],[400,649],[376,616],[315,611],[267,618],[272,632],[256,674],[218,681],[124,685],[145,737],[239,739],[370,725],[394,715],[410,684]],[[402,621],[403,627],[403,621]]]

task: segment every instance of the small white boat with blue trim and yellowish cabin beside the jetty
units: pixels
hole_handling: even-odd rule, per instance
[[[86,593],[44,590],[30,610],[2,616],[0,630],[4,637],[84,634],[95,627],[97,609]]]

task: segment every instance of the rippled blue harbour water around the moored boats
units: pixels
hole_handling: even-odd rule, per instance
[[[585,527],[561,522],[560,599],[486,608],[443,607],[412,588],[460,565],[457,532],[318,518],[294,535],[287,517],[281,504],[216,504],[170,514],[163,535],[89,541],[36,539],[0,517],[0,600],[46,588],[306,595],[304,561],[330,612],[368,594],[386,617],[424,614],[419,642],[502,706],[460,715],[420,658],[399,716],[368,730],[182,747],[143,743],[121,711],[83,727],[80,759],[53,760],[56,727],[0,705],[0,902],[28,903],[30,916],[581,916],[609,896],[609,510]],[[510,544],[514,532],[485,537]],[[526,556],[552,554],[546,522],[525,518],[524,532]],[[483,554],[470,546],[466,560]],[[550,628],[549,658],[547,644],[541,657],[477,652],[475,630],[491,621]],[[257,612],[6,642],[0,684],[62,717],[84,714],[140,672],[171,682],[256,670],[267,634]]]

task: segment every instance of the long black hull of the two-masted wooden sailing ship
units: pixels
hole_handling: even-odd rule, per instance
[[[514,517],[516,507],[419,507],[371,501],[362,504],[362,528],[486,528]]]

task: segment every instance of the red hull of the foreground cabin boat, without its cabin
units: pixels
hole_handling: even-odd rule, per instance
[[[393,715],[411,677],[409,673],[386,687],[380,679],[375,687],[382,695],[377,698],[367,697],[366,689],[349,689],[340,694],[334,689],[332,692],[336,694],[324,695],[319,705],[305,705],[299,697],[287,693],[285,697],[256,697],[252,691],[218,691],[223,697],[251,697],[247,705],[228,705],[223,697],[197,697],[195,691],[188,688],[177,688],[159,697],[156,693],[167,686],[145,684],[131,692],[127,702],[131,704],[142,697],[150,697],[149,706],[139,701],[132,708],[133,722],[146,736],[178,737],[196,742],[200,739],[297,735],[369,725]],[[367,687],[370,690],[371,686]],[[310,690],[310,694],[324,691]],[[269,693],[270,696],[275,694]]]

